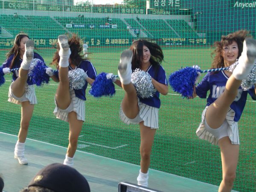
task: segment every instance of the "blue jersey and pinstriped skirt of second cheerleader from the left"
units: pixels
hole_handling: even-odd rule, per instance
[[[96,69],[94,68],[93,64],[90,61],[83,60],[81,61],[81,64],[79,64],[79,66],[76,68],[80,68],[84,70],[84,72],[87,73],[87,76],[90,77],[91,79],[96,79],[97,77]],[[69,71],[70,70],[75,70],[75,69],[69,66]],[[58,77],[58,71],[54,72],[54,75]],[[86,101],[85,90],[87,88],[87,85],[88,85],[88,82],[85,81],[85,84],[82,87],[82,89],[76,90],[70,87],[71,103],[67,109],[64,109],[64,110],[59,109],[55,100],[56,107],[53,113],[58,119],[68,122],[68,113],[70,113],[71,111],[75,111],[77,114],[77,119],[84,121],[84,115],[85,115],[84,101]]]

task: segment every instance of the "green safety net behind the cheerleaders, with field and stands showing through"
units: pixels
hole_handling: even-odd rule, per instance
[[[88,45],[88,57],[100,72],[117,74],[122,50],[133,40],[149,38],[163,48],[166,75],[181,67],[211,66],[212,48],[221,35],[240,29],[255,37],[256,3],[250,0],[130,0],[96,5],[73,0],[0,0],[0,62],[12,48],[15,35],[27,33],[49,65],[58,35],[76,33]],[[52,66],[51,66],[52,67]],[[0,131],[17,135],[20,106],[7,102],[11,75],[0,89]],[[28,137],[67,147],[68,123],[56,119],[57,83],[36,87]],[[86,95],[85,122],[78,149],[128,163],[140,164],[140,131],[119,119],[124,91],[116,87],[112,98]],[[221,157],[217,146],[199,140],[195,131],[206,100],[182,99],[169,88],[160,95],[159,127],[151,153],[152,169],[219,185]],[[256,108],[249,96],[239,121],[240,154],[233,189],[256,190]]]

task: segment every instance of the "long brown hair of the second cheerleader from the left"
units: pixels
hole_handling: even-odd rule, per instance
[[[71,50],[70,60],[71,60],[71,63],[76,66],[79,66],[79,64],[83,60],[83,58],[81,56],[81,52],[83,50],[83,48],[81,46],[81,42],[82,42],[81,39],[76,34],[72,34],[72,36],[69,37],[69,39],[68,39],[68,44],[70,45],[70,50]],[[55,64],[56,68],[58,69],[58,67],[59,67],[58,63],[60,61],[60,56],[58,55],[60,47],[58,44],[57,44],[56,48],[57,48],[57,50],[53,55],[51,64]]]

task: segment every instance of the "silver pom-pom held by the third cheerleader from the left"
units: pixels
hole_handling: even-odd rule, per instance
[[[143,99],[153,97],[155,90],[151,82],[151,76],[148,72],[136,69],[131,74],[131,82],[134,85],[138,96]]]

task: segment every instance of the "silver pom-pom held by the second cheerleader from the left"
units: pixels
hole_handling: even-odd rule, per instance
[[[70,81],[70,87],[73,89],[81,89],[84,87],[85,79],[87,78],[87,74],[84,70],[80,68],[76,68],[74,70],[70,70],[68,72],[68,78]]]

